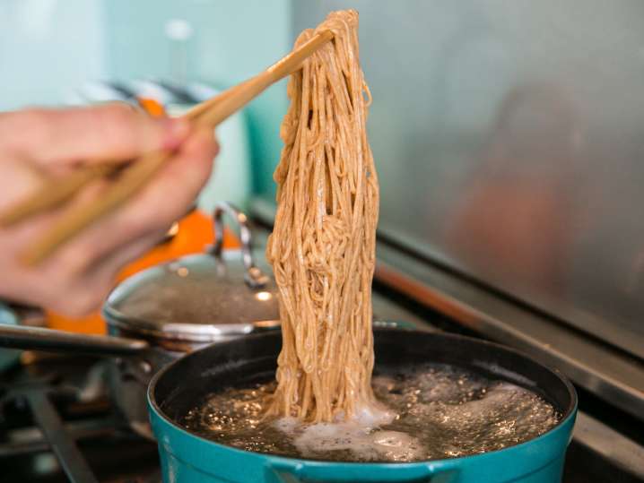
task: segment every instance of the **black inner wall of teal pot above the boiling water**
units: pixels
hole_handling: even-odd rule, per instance
[[[536,392],[563,418],[576,405],[575,391],[561,375],[497,344],[459,335],[396,329],[375,330],[374,342],[376,372],[428,362],[449,364]],[[269,381],[281,346],[280,333],[267,333],[198,350],[154,378],[152,404],[166,418],[177,421],[212,392]]]

